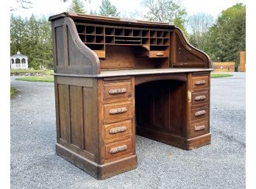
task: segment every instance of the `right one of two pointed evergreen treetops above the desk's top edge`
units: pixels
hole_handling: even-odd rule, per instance
[[[102,5],[99,7],[99,14],[118,17],[120,13],[117,11],[115,5],[111,4],[110,0],[102,0]]]

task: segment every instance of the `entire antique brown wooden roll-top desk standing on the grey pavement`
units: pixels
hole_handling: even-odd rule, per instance
[[[76,13],[49,21],[57,154],[105,179],[137,167],[135,134],[210,143],[212,62],[179,28]]]

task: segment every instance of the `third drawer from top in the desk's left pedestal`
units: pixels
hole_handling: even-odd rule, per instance
[[[105,140],[132,136],[132,119],[104,125]]]

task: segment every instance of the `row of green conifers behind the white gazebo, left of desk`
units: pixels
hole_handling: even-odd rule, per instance
[[[52,69],[51,25],[45,17],[21,19],[11,15],[10,55],[17,51],[29,57],[29,68]]]

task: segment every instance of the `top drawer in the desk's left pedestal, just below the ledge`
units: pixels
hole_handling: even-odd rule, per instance
[[[123,99],[132,96],[132,81],[104,83],[104,101],[108,99]]]

